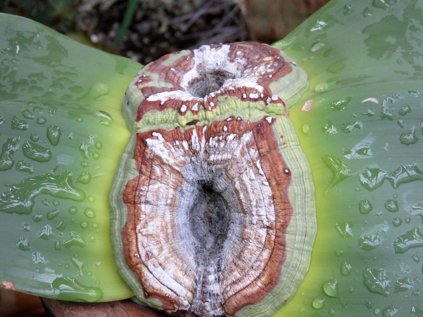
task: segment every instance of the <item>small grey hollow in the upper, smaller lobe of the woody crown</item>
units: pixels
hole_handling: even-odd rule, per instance
[[[219,90],[226,79],[233,79],[235,75],[228,72],[217,70],[212,73],[201,73],[189,84],[188,92],[195,97],[203,98],[209,93]]]

